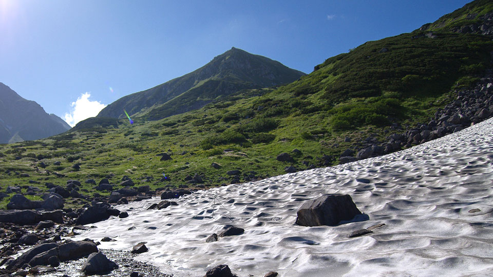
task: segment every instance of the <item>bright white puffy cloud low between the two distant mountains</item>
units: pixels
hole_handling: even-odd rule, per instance
[[[82,93],[81,96],[77,98],[77,101],[70,104],[72,109],[64,116],[68,125],[73,127],[75,124],[86,118],[98,115],[98,113],[106,107],[105,104],[102,104],[99,101],[90,101],[90,96],[91,94],[89,92]]]

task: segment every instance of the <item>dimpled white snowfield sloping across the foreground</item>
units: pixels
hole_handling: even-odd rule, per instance
[[[219,264],[238,276],[485,276],[493,272],[492,161],[490,119],[385,156],[198,191],[162,210],[147,210],[158,198],[117,206],[129,217],[75,238],[111,236],[116,242],[99,248],[117,250],[145,241],[149,251],[136,259],[175,276]],[[295,225],[303,201],[327,193],[350,194],[369,220]],[[227,224],[245,231],[205,242]]]

